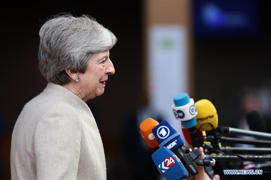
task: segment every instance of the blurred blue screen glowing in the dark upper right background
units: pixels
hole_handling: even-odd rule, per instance
[[[258,33],[256,0],[193,2],[193,26],[197,38],[253,37]]]

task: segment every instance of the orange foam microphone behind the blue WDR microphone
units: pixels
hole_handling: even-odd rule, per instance
[[[157,121],[155,121],[154,119],[147,118],[144,121],[142,121],[139,125],[139,130],[140,130],[141,136],[142,136],[143,140],[145,141],[145,143],[151,149],[155,149],[159,145],[157,140],[155,139],[155,136],[151,132],[152,128],[157,126],[157,124],[159,124],[159,123]]]

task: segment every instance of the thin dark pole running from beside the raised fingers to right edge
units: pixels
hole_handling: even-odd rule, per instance
[[[271,156],[255,156],[255,155],[205,155],[206,159],[215,159],[216,161],[270,161]]]

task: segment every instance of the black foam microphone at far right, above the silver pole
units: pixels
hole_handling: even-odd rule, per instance
[[[254,110],[246,113],[246,119],[250,130],[263,133],[267,132],[266,123],[258,111]]]

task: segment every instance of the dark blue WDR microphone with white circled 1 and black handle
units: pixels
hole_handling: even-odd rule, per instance
[[[183,141],[180,136],[180,133],[177,132],[168,121],[163,121],[157,126],[155,126],[152,130],[157,142],[159,143],[159,147],[167,147],[171,151],[173,151],[179,158],[181,158],[185,168],[188,172],[194,176],[198,174],[198,170],[191,163],[186,163],[187,161],[183,158],[185,155],[184,150],[182,149]]]

